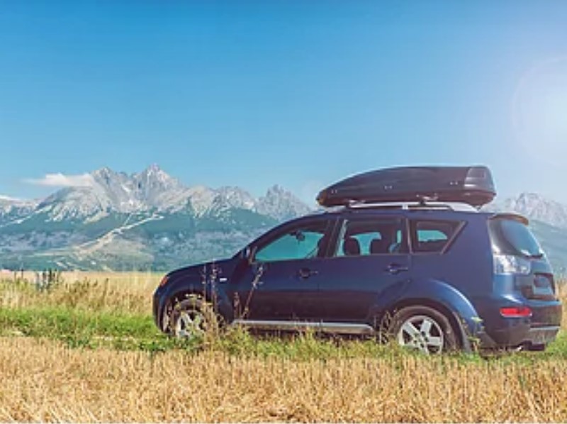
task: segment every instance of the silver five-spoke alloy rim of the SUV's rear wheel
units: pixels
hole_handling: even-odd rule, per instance
[[[433,318],[416,315],[404,321],[398,331],[398,343],[427,355],[441,353],[444,346],[441,326]]]

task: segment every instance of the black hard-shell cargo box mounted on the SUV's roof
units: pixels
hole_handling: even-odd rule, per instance
[[[343,179],[320,191],[317,201],[325,207],[427,200],[478,207],[495,195],[487,167],[397,167]]]

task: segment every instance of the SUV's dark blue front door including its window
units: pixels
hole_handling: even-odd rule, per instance
[[[319,282],[328,274],[324,256],[333,222],[318,217],[284,225],[252,247],[252,261],[235,281],[241,319],[318,318]]]

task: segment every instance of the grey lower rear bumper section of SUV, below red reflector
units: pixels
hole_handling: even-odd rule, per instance
[[[498,347],[519,347],[522,345],[547,345],[553,342],[559,332],[559,325],[525,328],[523,325],[514,329],[501,330],[492,337],[484,331],[478,333],[481,347],[488,349]]]

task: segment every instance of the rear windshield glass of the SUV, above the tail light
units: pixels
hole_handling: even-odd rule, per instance
[[[527,225],[515,219],[495,218],[488,221],[493,251],[503,255],[542,257],[543,250]]]

